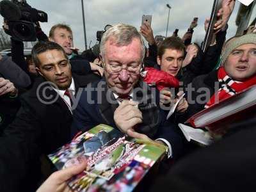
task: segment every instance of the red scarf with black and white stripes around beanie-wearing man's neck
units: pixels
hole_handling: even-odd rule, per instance
[[[234,81],[229,77],[224,69],[224,67],[220,67],[218,70],[218,81],[220,82],[220,89],[217,94],[212,95],[211,99],[205,104],[205,108],[209,108],[216,103],[216,101],[221,101],[232,95],[236,95],[246,88],[253,86],[256,84],[256,76],[247,79],[246,81]]]

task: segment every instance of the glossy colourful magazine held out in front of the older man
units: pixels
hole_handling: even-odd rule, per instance
[[[161,145],[145,144],[100,124],[48,157],[58,170],[79,157],[88,159],[86,170],[68,181],[74,191],[132,191],[164,153]]]

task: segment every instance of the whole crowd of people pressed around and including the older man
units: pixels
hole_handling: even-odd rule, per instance
[[[0,191],[68,191],[66,181],[86,161],[54,172],[47,154],[99,124],[166,145],[165,170],[155,175],[151,191],[253,186],[255,118],[204,149],[188,143],[178,127],[216,104],[216,97],[228,99],[256,84],[256,34],[247,30],[225,42],[234,4],[223,1],[205,52],[191,43],[195,20],[182,38],[174,33],[160,41],[147,22],[140,31],[116,24],[104,32],[98,50],[83,54],[66,24],[52,26],[49,36],[36,26],[31,56],[11,37],[12,58],[0,56]],[[206,19],[205,30],[208,24]]]

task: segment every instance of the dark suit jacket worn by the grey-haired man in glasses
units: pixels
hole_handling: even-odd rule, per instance
[[[140,82],[140,85],[141,83],[142,82]],[[144,91],[149,91],[150,95],[153,94],[153,92],[151,92],[152,89],[147,86],[147,84],[143,84],[146,88]],[[107,91],[106,81],[102,79],[99,82],[92,83],[90,86],[88,85],[87,88],[87,91],[84,91],[81,94],[81,99],[74,111],[72,136],[75,136],[79,131],[88,131],[99,124],[107,124],[118,129],[113,119],[118,103],[116,102],[113,93]],[[177,133],[177,127],[175,127],[174,124],[165,121],[166,115],[159,109],[159,92],[157,92],[157,89],[155,90],[156,95],[153,95],[153,97],[156,100],[150,100],[145,106],[143,106],[143,104],[140,106],[139,104],[139,109],[143,114],[143,124],[138,125],[137,131],[143,133],[147,132],[146,134],[152,139],[164,138],[168,140],[172,145],[173,157],[178,157],[182,151],[182,137]],[[141,92],[136,92],[136,95],[134,95],[136,98],[134,98],[134,100],[142,101],[140,94]],[[150,96],[148,95],[148,98],[149,97]],[[107,98],[111,98],[113,104],[111,104]],[[156,108],[153,109],[154,113],[148,113],[147,110],[144,111],[144,109],[150,108],[150,106],[154,104],[157,106],[156,111]]]

